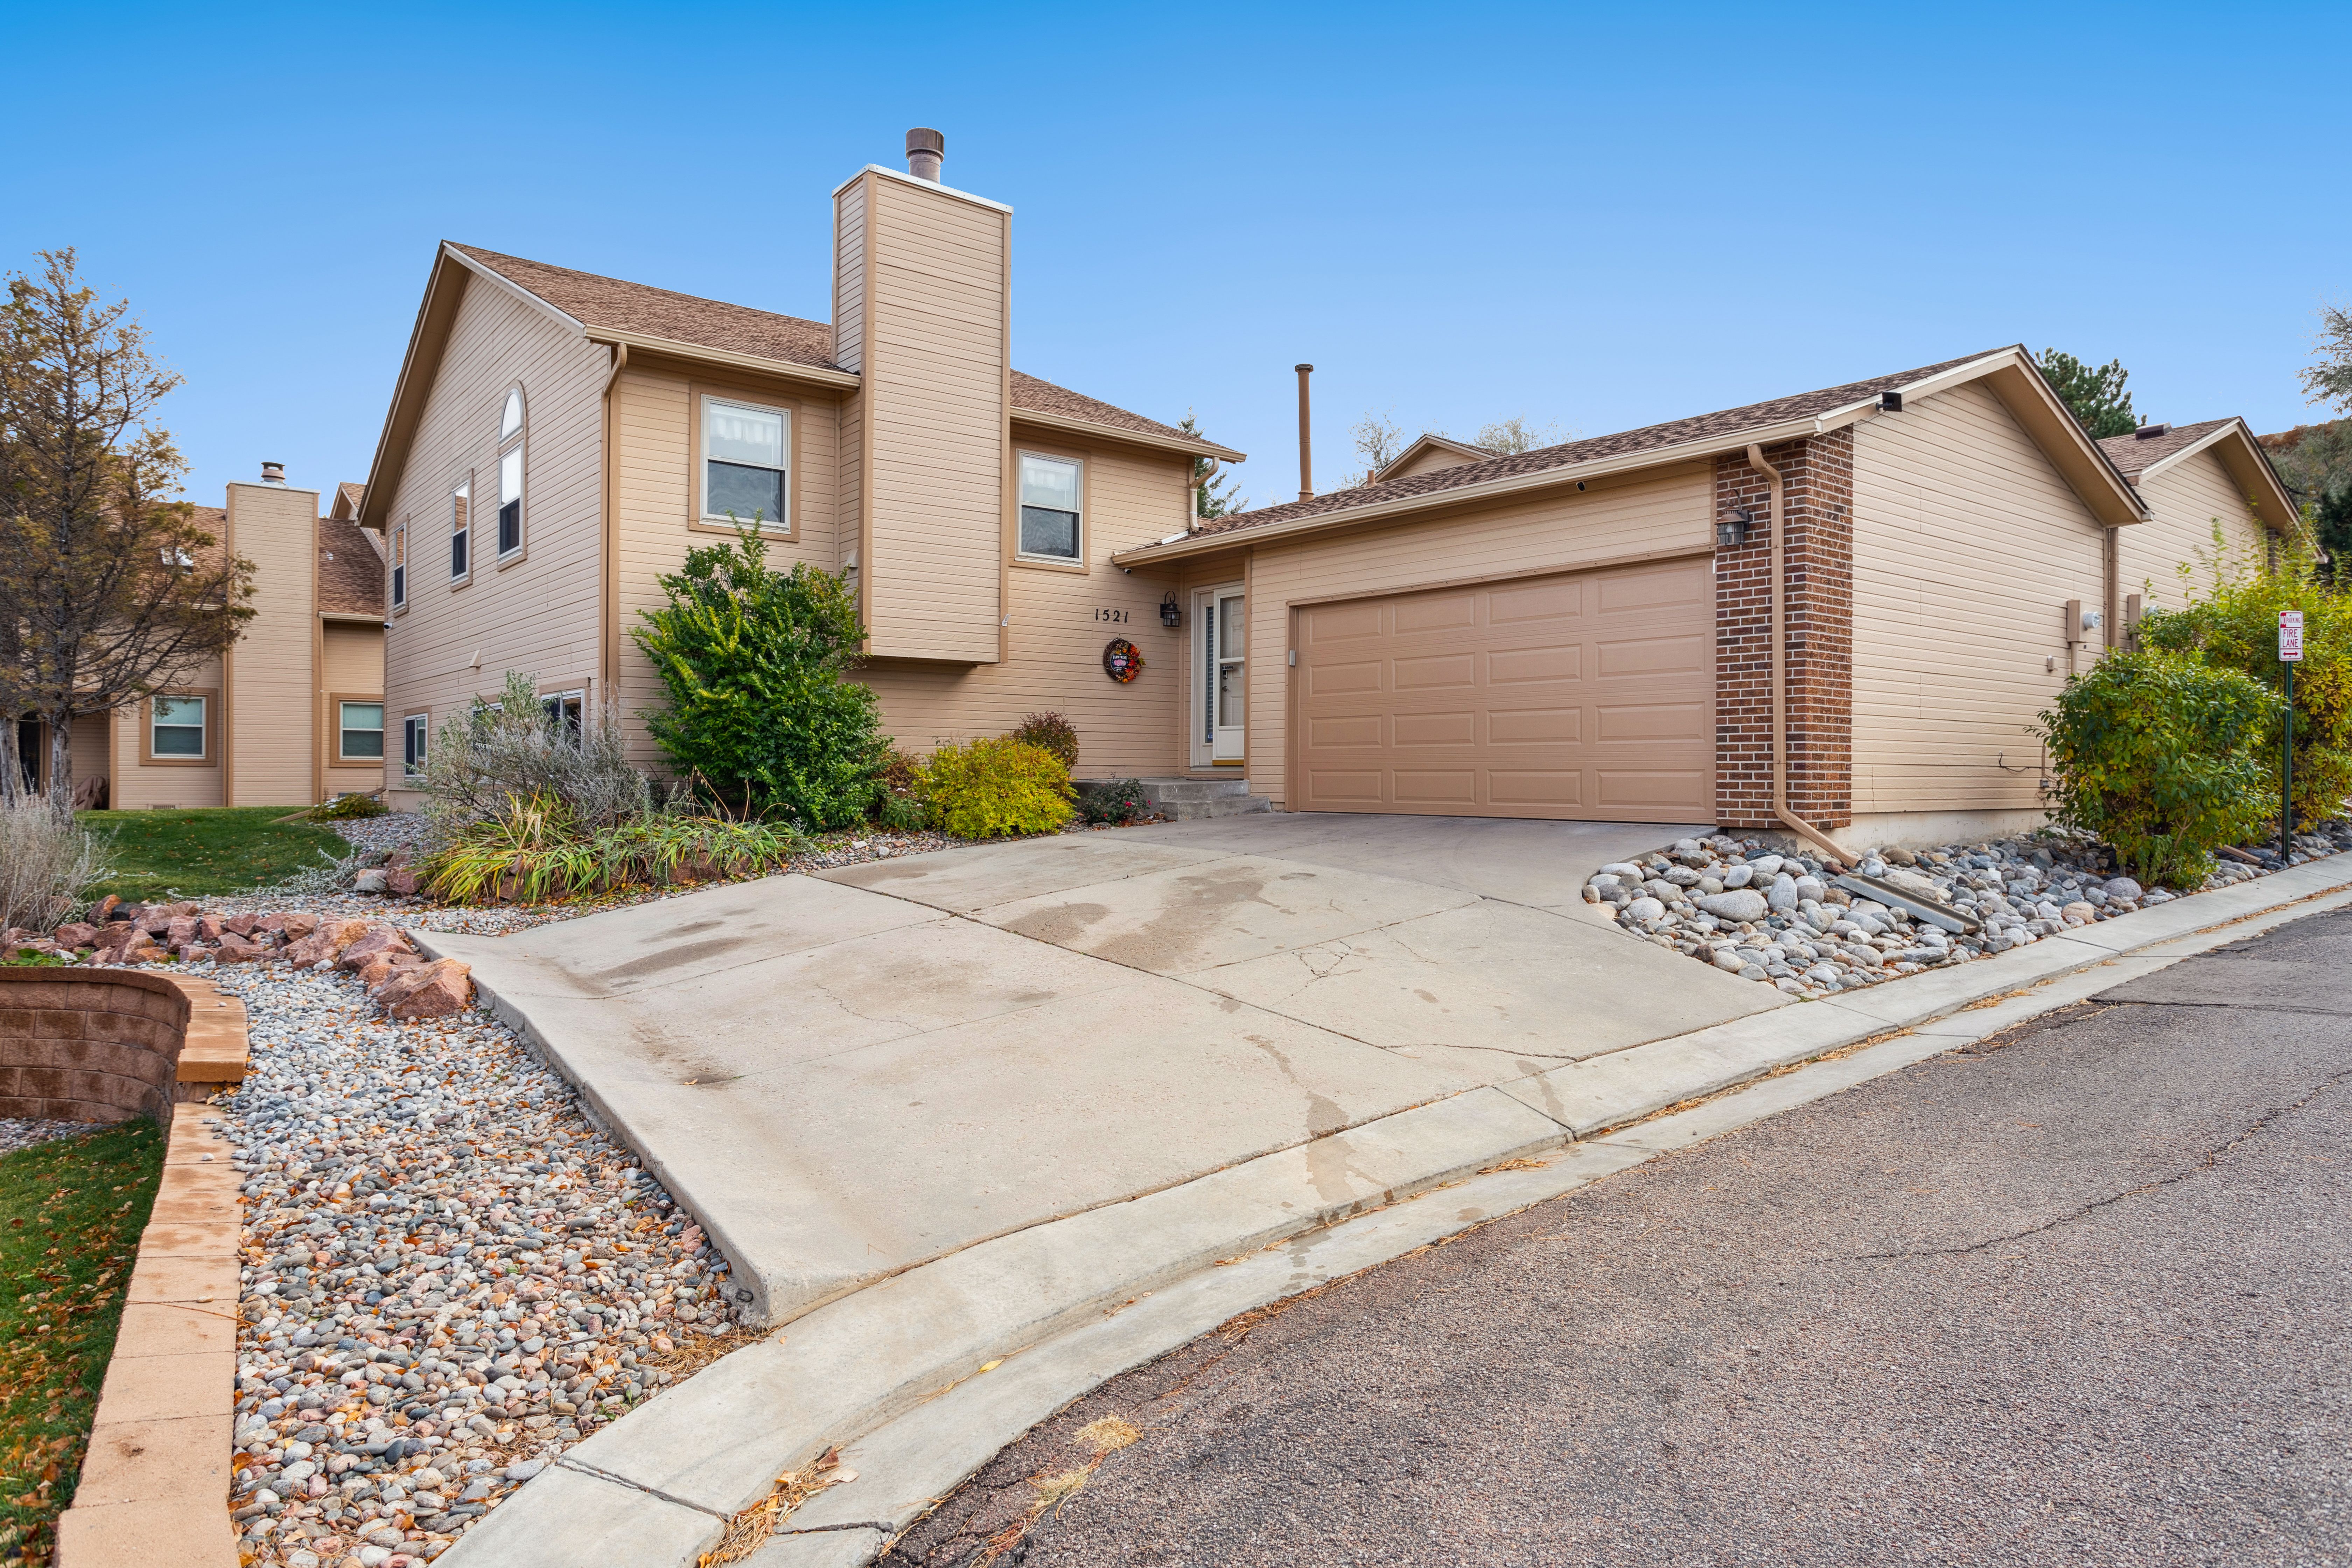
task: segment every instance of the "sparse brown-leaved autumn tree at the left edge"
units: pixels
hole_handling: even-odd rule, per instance
[[[254,567],[176,501],[186,463],[151,423],[181,378],[71,249],[0,301],[0,717],[49,726],[49,797],[73,802],[73,719],[129,708],[228,649]],[[21,790],[0,724],[0,792]]]

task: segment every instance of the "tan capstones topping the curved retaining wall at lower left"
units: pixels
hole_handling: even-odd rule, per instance
[[[181,976],[85,971],[82,978],[162,985],[186,997],[188,1013],[174,1053],[179,1105],[165,1107],[162,1182],[139,1237],[82,1479],[56,1521],[56,1561],[59,1568],[165,1561],[238,1568],[228,1439],[242,1201],[219,1117],[195,1100],[245,1079],[245,1004]]]

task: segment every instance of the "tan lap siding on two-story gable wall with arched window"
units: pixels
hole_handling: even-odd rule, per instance
[[[386,517],[409,524],[409,609],[386,632],[388,750],[402,715],[433,729],[508,670],[586,686],[602,623],[602,421],[609,350],[468,277]],[[499,409],[524,395],[524,550],[496,564]],[[449,491],[473,470],[473,581],[449,588]],[[475,658],[480,656],[480,668]],[[395,752],[397,755],[397,752]]]

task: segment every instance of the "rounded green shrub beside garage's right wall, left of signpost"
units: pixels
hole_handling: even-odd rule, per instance
[[[2042,715],[2060,825],[2098,835],[2147,884],[2197,886],[2213,851],[2260,832],[2284,703],[2241,670],[2171,651],[2110,654]]]

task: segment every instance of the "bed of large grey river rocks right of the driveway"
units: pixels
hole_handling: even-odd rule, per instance
[[[1835,886],[1837,872],[1811,853],[1780,853],[1759,839],[1733,837],[1677,839],[1637,860],[1604,865],[1585,884],[1585,903],[1613,907],[1616,924],[1661,947],[1813,999],[2009,952],[2345,849],[2352,849],[2352,823],[2326,823],[2298,835],[2288,860],[2279,860],[2274,844],[2237,849],[2204,886],[2185,891],[2110,877],[2098,870],[2098,844],[2056,830],[1889,849],[1853,867],[1973,914],[1980,922],[1973,933],[1943,931],[1893,903]]]

